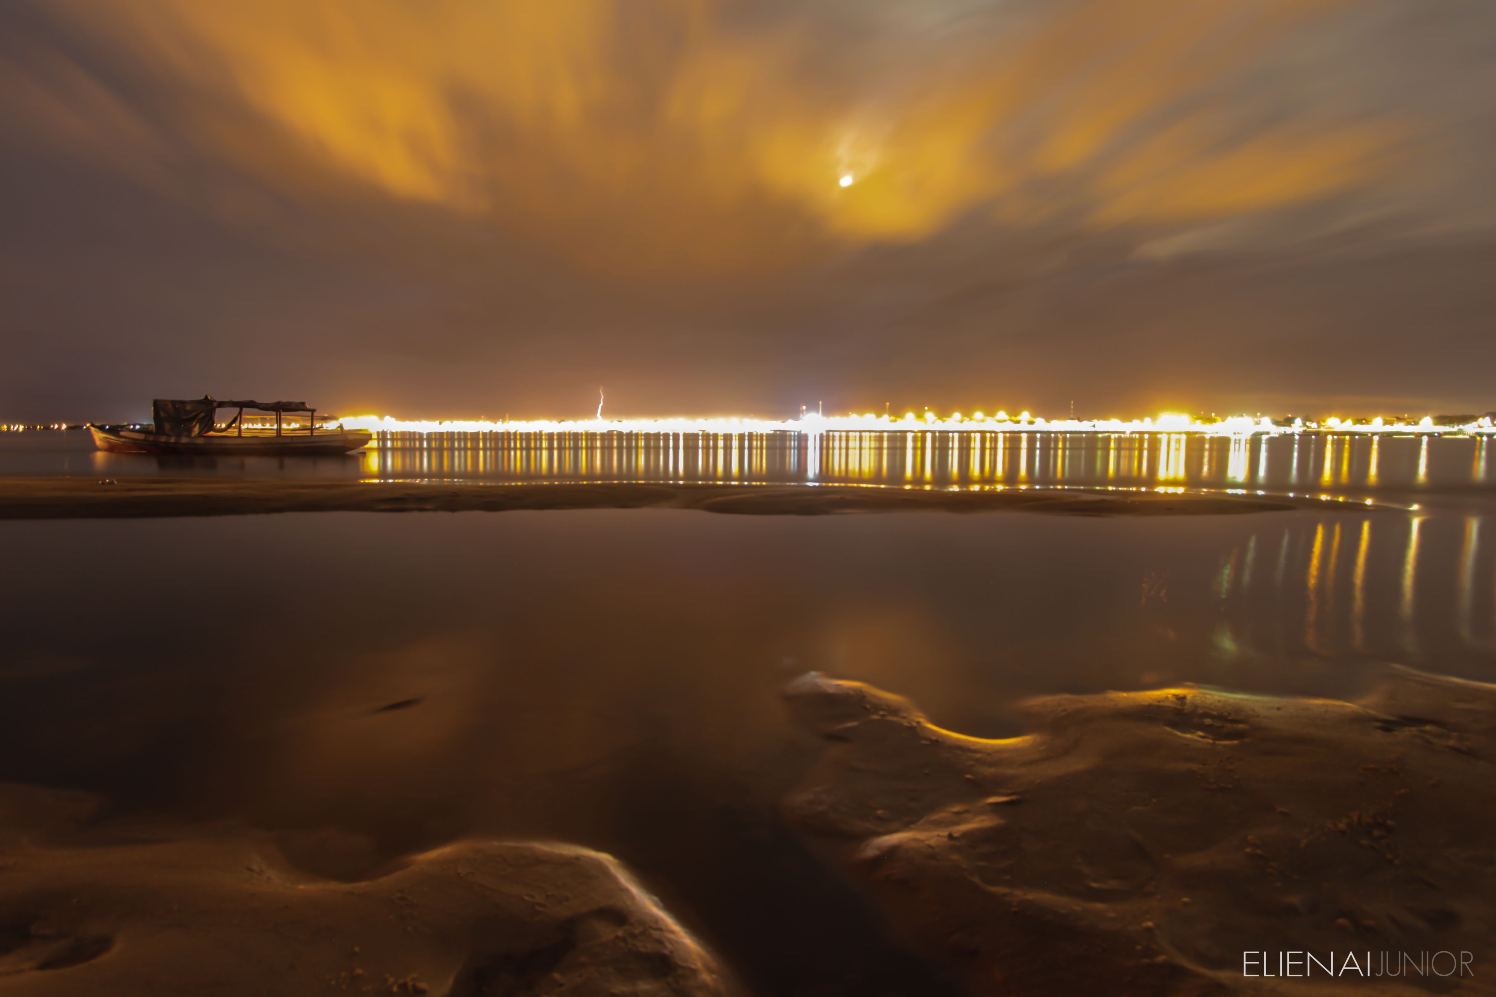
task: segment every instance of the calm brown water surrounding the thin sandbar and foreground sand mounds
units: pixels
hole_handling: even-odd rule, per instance
[[[778,818],[815,752],[778,698],[802,671],[874,682],[986,735],[1019,729],[1014,704],[1047,692],[1343,697],[1388,661],[1496,680],[1496,502],[1468,438],[464,438],[212,468],[69,436],[0,436],[0,472],[1385,501],[1179,519],[0,522],[0,779],[90,788],[123,812],[242,818],[292,852],[332,840],[367,861],[465,834],[592,845],[642,870],[760,994],[948,993]]]

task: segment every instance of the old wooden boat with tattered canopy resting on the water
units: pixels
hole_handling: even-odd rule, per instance
[[[220,402],[203,395],[194,399],[159,398],[151,408],[156,417],[151,430],[88,423],[94,445],[111,453],[326,456],[367,447],[374,439],[367,429],[317,429],[317,410],[305,402]],[[220,408],[239,411],[220,426],[215,420]],[[247,427],[244,410],[275,413],[275,426]],[[307,413],[307,427],[286,427],[286,413]]]

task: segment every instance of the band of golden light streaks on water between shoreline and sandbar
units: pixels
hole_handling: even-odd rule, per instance
[[[381,433],[375,478],[1121,484],[1340,492],[1486,486],[1486,436],[821,432]]]

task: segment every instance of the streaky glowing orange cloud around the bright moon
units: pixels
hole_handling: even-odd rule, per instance
[[[706,0],[73,4],[211,97],[184,127],[269,179],[305,170],[260,129],[334,176],[615,272],[916,241],[986,205],[1092,226],[1228,217],[1364,184],[1396,138],[1249,124],[1237,75],[1342,0],[1058,1],[950,58],[883,39],[866,63],[884,78],[851,85],[821,79],[806,22],[729,30]]]

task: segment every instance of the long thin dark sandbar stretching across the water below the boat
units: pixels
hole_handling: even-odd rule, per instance
[[[1071,516],[1219,516],[1354,508],[1325,499],[1177,492],[1002,489],[954,492],[782,484],[468,484],[244,481],[220,478],[0,478],[0,519],[141,519],[262,513],[462,513],[564,508],[691,508],[747,516],[896,511],[1025,511]]]

